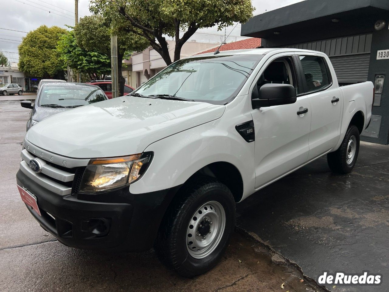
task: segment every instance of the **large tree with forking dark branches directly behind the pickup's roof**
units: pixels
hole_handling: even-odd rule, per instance
[[[117,22],[145,37],[162,56],[172,63],[165,35],[174,37],[174,59],[180,59],[182,46],[199,28],[214,25],[221,30],[234,22],[252,17],[251,0],[91,0],[91,11]],[[185,32],[184,32],[185,31]],[[184,32],[180,37],[180,32]]]

